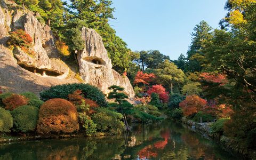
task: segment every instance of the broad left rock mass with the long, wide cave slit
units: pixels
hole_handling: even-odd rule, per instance
[[[34,40],[33,56],[7,47],[9,31],[15,29],[25,30]],[[0,86],[5,91],[38,93],[52,85],[79,83],[68,76],[69,68],[58,55],[48,26],[39,23],[33,12],[25,14],[17,4],[0,0]]]

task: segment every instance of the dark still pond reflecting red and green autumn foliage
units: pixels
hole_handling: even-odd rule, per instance
[[[134,125],[126,136],[0,145],[0,159],[241,159],[181,124]]]

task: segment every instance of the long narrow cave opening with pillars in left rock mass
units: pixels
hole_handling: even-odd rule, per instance
[[[34,74],[41,74],[42,76],[52,76],[52,77],[57,77],[57,76],[61,76],[62,74],[53,71],[53,70],[47,70],[47,69],[39,69],[36,67],[32,67],[32,66],[26,66],[24,64],[18,64],[20,67],[30,71],[31,73]]]

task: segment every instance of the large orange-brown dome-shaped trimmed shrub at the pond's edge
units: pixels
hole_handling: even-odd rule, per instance
[[[39,110],[38,133],[72,133],[79,129],[76,107],[65,99],[47,100]]]

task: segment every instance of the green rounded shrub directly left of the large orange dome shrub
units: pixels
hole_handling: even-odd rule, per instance
[[[39,109],[34,106],[20,106],[11,111],[13,117],[13,130],[16,132],[35,131]]]

